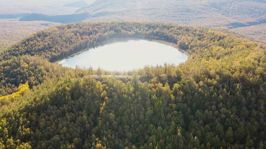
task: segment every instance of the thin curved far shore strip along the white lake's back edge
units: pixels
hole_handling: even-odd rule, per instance
[[[101,45],[101,46],[108,45],[108,44],[113,44],[113,43],[117,43],[117,42],[127,42],[127,41],[129,41],[129,40],[146,40],[146,41],[150,41],[150,42],[157,42],[157,43],[165,44],[165,45],[168,45],[168,46],[172,46],[173,48],[175,48],[175,49],[177,49],[177,50],[179,50],[179,51],[185,53],[188,57],[190,57],[190,54],[189,54],[188,52],[186,52],[185,50],[180,49],[176,44],[174,44],[174,43],[170,43],[170,42],[166,42],[166,41],[163,41],[163,40],[154,40],[154,39],[145,39],[145,38],[143,38],[143,39],[141,39],[141,38],[127,38],[127,39],[124,39],[124,40],[118,40],[118,41],[107,42],[107,43],[105,43],[105,44],[103,44],[103,45]],[[101,47],[101,46],[98,46],[98,47]],[[55,61],[55,62],[53,62],[53,63],[54,63],[54,64],[61,65],[61,64],[59,64],[61,61],[65,60],[65,59],[68,59],[68,58],[70,58],[70,57],[73,57],[73,56],[75,56],[75,55],[78,55],[78,54],[80,54],[80,53],[82,53],[82,52],[84,52],[84,51],[91,50],[91,49],[95,49],[95,48],[97,48],[97,47],[94,47],[94,48],[86,48],[86,49],[84,49],[84,50],[81,50],[81,51],[78,51],[78,52],[76,52],[76,53],[74,53],[74,54],[71,54],[71,55],[69,55],[69,56],[66,56],[64,59],[60,59],[60,60]],[[62,65],[61,65],[61,66],[62,66]]]

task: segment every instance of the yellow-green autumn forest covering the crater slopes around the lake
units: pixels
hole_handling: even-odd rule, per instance
[[[131,79],[52,63],[132,38],[174,43],[189,60],[123,73]],[[266,46],[211,29],[52,27],[2,52],[0,86],[19,93],[0,100],[0,149],[266,149]]]

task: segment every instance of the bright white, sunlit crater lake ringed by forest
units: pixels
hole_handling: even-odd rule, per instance
[[[178,65],[188,56],[176,48],[147,40],[129,40],[107,44],[95,49],[83,51],[59,64],[65,67],[93,67],[107,71],[132,71],[144,66],[167,64]]]

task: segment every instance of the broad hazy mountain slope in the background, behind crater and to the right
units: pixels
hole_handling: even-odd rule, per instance
[[[91,21],[159,21],[229,28],[266,20],[266,0],[96,0],[76,13]]]

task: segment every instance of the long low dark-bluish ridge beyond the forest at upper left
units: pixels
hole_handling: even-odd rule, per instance
[[[70,15],[56,15],[48,16],[44,14],[33,13],[31,15],[22,17],[19,21],[49,21],[56,23],[73,23],[85,20],[89,16],[88,13],[70,14]]]

